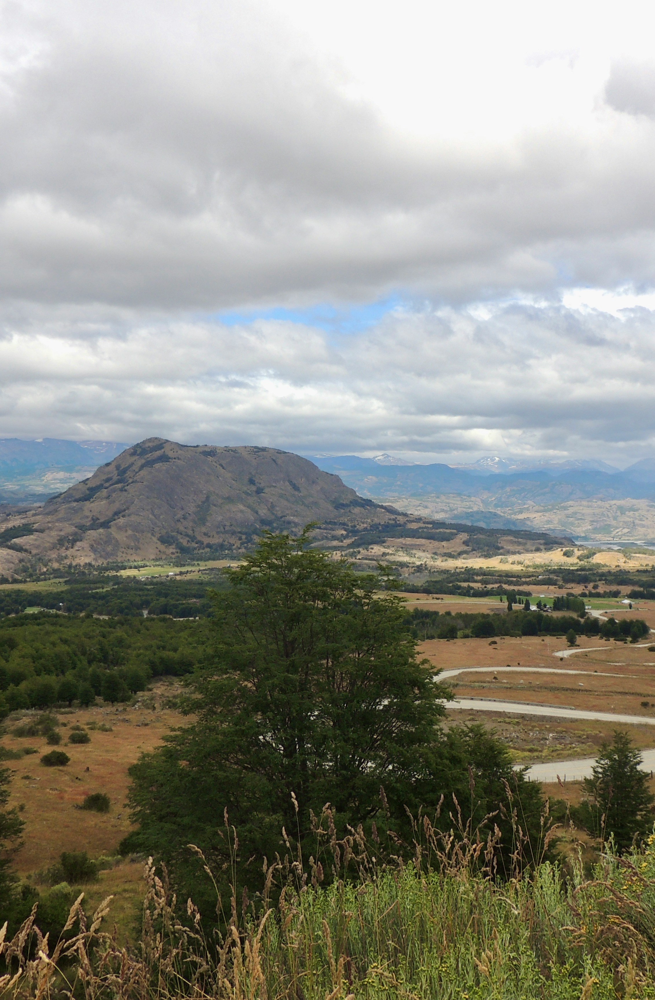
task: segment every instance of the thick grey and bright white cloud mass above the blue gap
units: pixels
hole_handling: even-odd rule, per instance
[[[604,102],[609,42],[580,11],[4,9],[7,300],[462,302],[655,278],[655,129],[623,114],[616,68]],[[537,51],[537,28],[559,47]]]

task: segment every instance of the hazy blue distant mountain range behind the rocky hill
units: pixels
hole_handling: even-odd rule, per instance
[[[115,441],[0,438],[0,504],[44,502],[127,448]],[[655,541],[653,458],[620,471],[597,459],[486,456],[470,465],[423,465],[386,453],[305,457],[361,496],[414,514],[486,528],[574,533],[590,542]],[[623,500],[641,506],[628,517],[618,503]]]

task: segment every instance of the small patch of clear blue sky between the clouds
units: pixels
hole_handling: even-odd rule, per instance
[[[258,319],[278,320],[313,326],[325,330],[327,333],[349,334],[359,333],[361,330],[375,326],[387,313],[394,312],[405,305],[404,299],[394,295],[377,302],[351,303],[340,306],[321,303],[295,309],[275,306],[271,309],[220,312],[206,318],[216,320],[224,326],[244,326]]]

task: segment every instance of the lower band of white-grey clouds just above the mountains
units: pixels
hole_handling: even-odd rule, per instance
[[[346,334],[111,310],[102,322],[78,311],[68,325],[14,315],[4,328],[5,435],[47,427],[73,438],[623,465],[655,445],[655,313],[641,306],[397,307]]]

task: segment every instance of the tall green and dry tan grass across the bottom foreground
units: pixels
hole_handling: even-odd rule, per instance
[[[0,943],[3,996],[85,1000],[592,1000],[655,997],[655,837],[627,858],[604,854],[591,879],[542,862],[494,875],[494,841],[441,835],[423,819],[414,858],[378,856],[361,828],[342,840],[329,809],[324,865],[290,852],[264,862],[254,901],[237,887],[224,930],[207,939],[192,901],[182,918],[166,870],[145,866],[135,948],[87,923],[82,896],[51,944],[36,908]],[[419,824],[415,824],[418,833]],[[463,831],[466,833],[466,831]],[[231,831],[233,838],[234,831]],[[286,839],[286,834],[285,834]],[[233,840],[236,850],[236,843]],[[544,845],[545,846],[545,845]],[[204,858],[193,848],[201,864]],[[377,852],[377,853],[376,853]],[[317,854],[318,856],[318,854]],[[355,874],[344,878],[349,870]],[[208,878],[213,878],[206,865]],[[219,902],[219,908],[220,908]],[[30,949],[30,943],[32,948]]]

